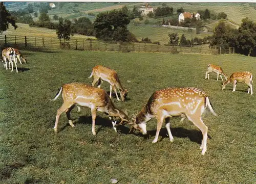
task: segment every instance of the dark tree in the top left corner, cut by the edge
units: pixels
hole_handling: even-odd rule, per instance
[[[6,10],[4,2],[0,3],[0,32],[1,34],[3,31],[8,30],[9,24],[14,27],[14,29],[17,28],[15,18]]]

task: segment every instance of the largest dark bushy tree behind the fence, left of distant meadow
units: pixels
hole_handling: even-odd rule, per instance
[[[127,35],[129,35],[127,30],[127,24],[129,23],[129,17],[123,14],[122,11],[113,10],[100,13],[94,21],[95,36],[104,41],[126,41]],[[117,34],[122,35],[117,36]]]

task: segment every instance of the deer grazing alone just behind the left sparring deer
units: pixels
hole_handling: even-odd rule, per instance
[[[127,90],[123,89],[120,80],[117,76],[117,72],[115,70],[112,70],[110,68],[106,68],[101,65],[97,65],[93,68],[91,75],[89,78],[94,77],[92,86],[95,85],[96,82],[98,82],[97,87],[100,88],[100,85],[102,81],[106,81],[110,84],[110,98],[112,95],[112,89],[116,93],[116,98],[118,101],[120,101],[120,98],[117,95],[116,88],[119,90],[120,96],[122,101],[125,99],[127,96]]]

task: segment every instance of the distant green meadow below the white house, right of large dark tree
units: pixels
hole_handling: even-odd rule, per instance
[[[187,39],[191,38],[203,38],[205,36],[210,36],[210,33],[200,33],[196,34],[195,31],[185,31],[185,30],[178,30],[178,29],[170,29],[165,27],[152,27],[151,25],[144,25],[144,26],[136,26],[136,25],[129,25],[128,29],[130,32],[135,34],[136,38],[140,41],[145,37],[151,39],[152,42],[159,41],[161,44],[167,44],[169,41],[168,34],[170,33],[178,33],[179,37],[184,33]]]

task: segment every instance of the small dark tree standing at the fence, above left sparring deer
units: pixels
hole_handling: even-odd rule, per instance
[[[64,39],[64,42],[70,39],[70,35],[73,36],[71,21],[65,19],[64,22],[60,19],[59,24],[56,29],[56,34],[59,40]]]

